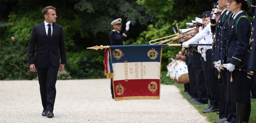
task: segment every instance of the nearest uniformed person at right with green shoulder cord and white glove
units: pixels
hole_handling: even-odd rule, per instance
[[[251,23],[245,13],[247,0],[230,0],[231,18],[226,40],[225,67],[227,77],[226,97],[236,102],[237,123],[248,123],[251,113],[250,76],[236,69],[246,69],[248,62]]]

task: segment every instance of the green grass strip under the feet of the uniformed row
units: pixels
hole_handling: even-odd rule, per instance
[[[187,95],[187,92],[183,92],[184,91],[184,86],[183,85],[177,85],[178,89],[180,90],[180,93],[183,95],[184,98],[188,99],[190,98],[190,96]],[[203,107],[207,106],[207,104],[204,105],[195,105],[193,102],[190,102],[190,104],[196,109],[198,110],[198,112],[207,117],[208,121],[211,123],[214,123],[215,120],[219,119],[219,115],[216,112],[211,112],[211,113],[203,113]],[[250,116],[250,120],[249,123],[256,123],[256,99],[252,99],[251,100],[251,116]]]

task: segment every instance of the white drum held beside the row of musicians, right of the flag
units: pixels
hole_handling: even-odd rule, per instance
[[[170,62],[167,65],[168,72],[170,73],[171,79],[173,79],[178,84],[189,83],[189,71],[188,66],[182,60],[176,60]]]

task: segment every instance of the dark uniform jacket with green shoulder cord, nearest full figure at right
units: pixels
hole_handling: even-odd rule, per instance
[[[241,19],[236,27],[240,16]],[[251,23],[245,12],[238,14],[231,23],[226,42],[226,62],[234,64],[236,68],[246,68],[247,66],[250,30]]]

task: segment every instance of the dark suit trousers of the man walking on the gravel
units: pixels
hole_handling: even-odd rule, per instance
[[[50,64],[48,67],[36,68],[40,85],[40,94],[44,110],[53,111],[56,97],[56,81],[58,67]]]

